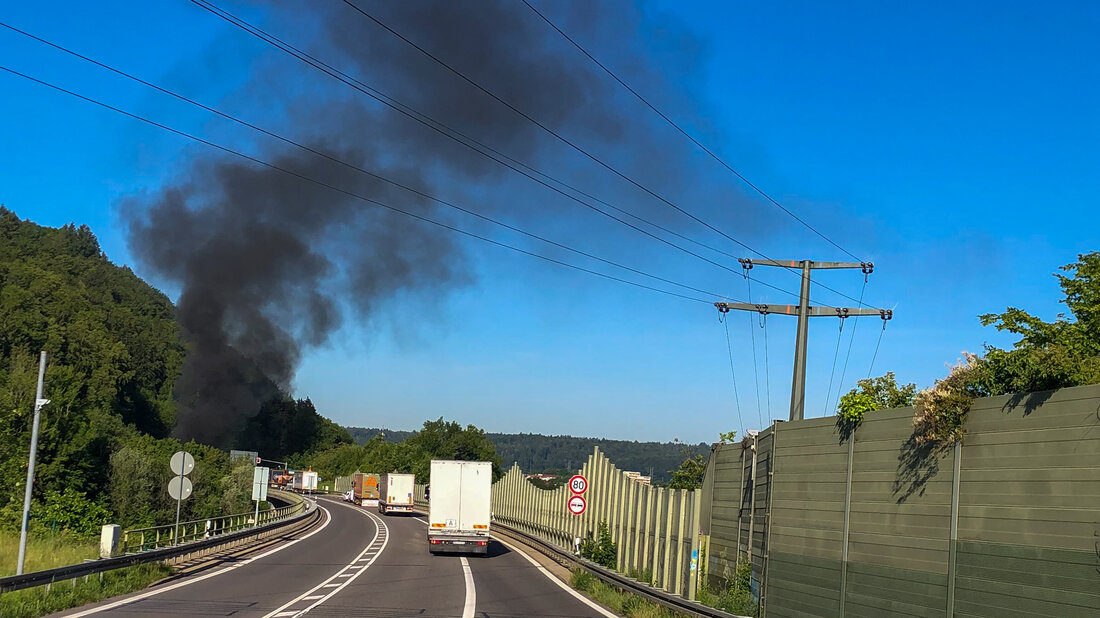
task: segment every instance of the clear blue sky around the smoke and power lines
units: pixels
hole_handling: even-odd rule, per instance
[[[866,301],[897,312],[875,375],[894,371],[925,387],[961,351],[1010,344],[977,316],[1015,306],[1053,319],[1060,306],[1050,274],[1078,253],[1100,250],[1094,3],[678,2],[640,11],[602,4],[593,10],[596,25],[586,25],[591,15],[570,14],[569,5],[537,5],[752,183],[876,263]],[[301,15],[305,25],[292,27],[287,12],[308,11],[306,3],[282,14],[255,4],[226,7],[296,44],[324,48],[308,15]],[[618,19],[617,11],[629,19]],[[31,3],[0,15],[287,134],[310,131],[287,118],[287,101],[315,91],[345,96],[182,0],[156,7],[123,2],[110,11]],[[245,131],[3,29],[0,51],[0,64],[12,69],[222,143],[263,147]],[[447,49],[439,52],[446,56]],[[568,46],[553,52],[564,67],[591,69]],[[492,75],[482,77],[495,86]],[[114,262],[177,294],[170,282],[143,272],[128,246],[120,208],[127,198],[156,194],[188,174],[204,147],[16,77],[0,75],[0,202],[42,224],[91,225]],[[606,95],[626,131],[610,141],[590,141],[584,131],[569,133],[572,139],[771,257],[847,258],[609,82]],[[540,151],[546,169],[685,235],[750,256],[559,146]],[[438,194],[514,217],[525,229],[702,289],[747,296],[740,276],[601,220],[526,180],[435,180]],[[453,222],[483,230],[468,220]],[[491,431],[710,441],[719,431],[760,427],[769,411],[787,417],[793,319],[768,320],[766,372],[765,329],[755,317],[730,314],[738,407],[725,331],[713,307],[461,242],[469,285],[395,298],[367,320],[348,320],[328,343],[307,350],[296,394],[312,398],[338,422],[395,429],[444,416]],[[798,289],[787,272],[758,267],[754,275]],[[814,276],[854,297],[864,284],[858,272]],[[793,302],[754,286],[754,301]],[[817,304],[851,304],[827,290],[815,289],[813,297]],[[843,332],[838,365],[847,357],[848,368],[842,391],[867,375],[881,330],[878,319],[854,322]],[[811,323],[807,417],[832,413],[842,371],[831,371],[837,334],[834,319]]]

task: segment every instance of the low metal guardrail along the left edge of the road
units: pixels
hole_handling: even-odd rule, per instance
[[[292,505],[292,507],[298,507],[300,511],[297,512],[296,515],[284,517],[282,520],[276,520],[276,521],[268,520],[266,523],[262,526],[250,527],[243,530],[237,530],[234,532],[224,532],[221,534],[211,536],[210,538],[195,540],[188,543],[180,543],[178,545],[173,545],[173,547],[165,547],[150,551],[130,553],[116,558],[91,560],[81,564],[58,566],[56,569],[48,569],[46,571],[35,571],[34,573],[24,573],[22,575],[0,577],[0,594],[21,591],[24,588],[33,588],[35,586],[54,584],[56,582],[64,582],[67,580],[74,580],[76,577],[85,577],[87,575],[95,575],[97,573],[106,573],[108,571],[114,571],[116,569],[124,569],[127,566],[135,566],[138,564],[144,564],[150,562],[163,562],[166,560],[172,560],[174,558],[179,558],[182,555],[197,553],[206,550],[212,550],[215,548],[219,548],[222,545],[228,545],[231,543],[244,541],[245,539],[249,539],[250,537],[253,536],[261,537],[278,528],[290,526],[296,522],[306,523],[307,522],[306,520],[308,518],[316,517],[317,514],[320,512],[317,510],[317,504],[310,500],[302,500],[299,505]],[[284,508],[292,508],[292,507],[284,507]],[[183,534],[180,534],[180,538],[183,538]]]

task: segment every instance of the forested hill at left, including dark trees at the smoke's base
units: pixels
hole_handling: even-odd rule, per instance
[[[42,412],[32,523],[50,514],[47,526],[97,534],[108,520],[166,522],[175,515],[163,489],[167,461],[182,446],[169,439],[173,388],[187,352],[175,307],[112,264],[87,225],[46,228],[0,207],[0,528],[20,519],[41,350],[50,404]],[[350,437],[308,399],[279,396],[231,441],[278,459]],[[237,479],[228,454],[188,449],[204,472],[185,518],[249,508],[248,494],[229,490]],[[243,490],[250,479],[251,472]],[[243,498],[238,504],[233,496]]]

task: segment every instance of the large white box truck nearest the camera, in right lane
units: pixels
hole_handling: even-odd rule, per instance
[[[432,460],[428,551],[488,553],[493,464]]]

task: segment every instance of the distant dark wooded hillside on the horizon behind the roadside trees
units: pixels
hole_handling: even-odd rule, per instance
[[[363,444],[378,433],[385,433],[386,441],[402,442],[415,432],[391,429],[349,427],[348,431],[356,443]],[[496,454],[505,468],[518,463],[524,472],[574,471],[600,446],[615,465],[623,470],[637,471],[653,477],[657,483],[669,481],[669,471],[675,470],[688,456],[706,456],[711,445],[681,444],[675,442],[630,442],[627,440],[603,440],[598,438],[573,438],[571,435],[542,435],[539,433],[486,433],[496,446]]]

